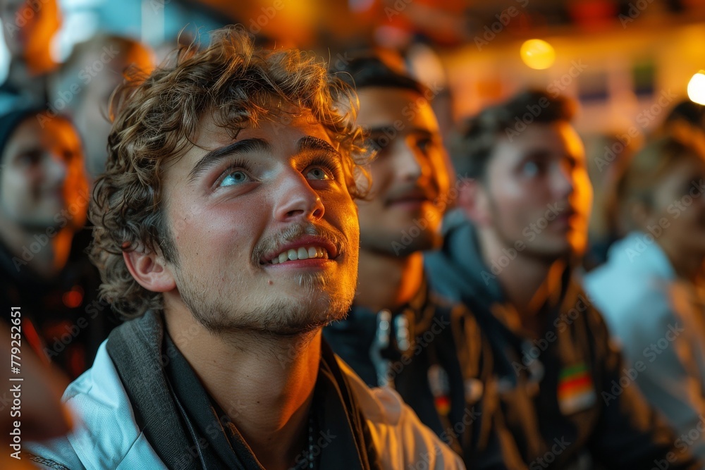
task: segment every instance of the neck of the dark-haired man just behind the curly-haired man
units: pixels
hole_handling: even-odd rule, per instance
[[[360,249],[355,304],[372,310],[396,309],[407,304],[424,279],[422,252],[398,257]]]

